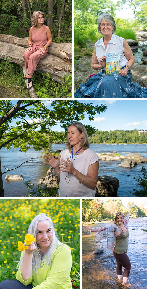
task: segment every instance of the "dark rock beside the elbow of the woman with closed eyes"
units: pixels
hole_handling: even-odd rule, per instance
[[[117,197],[119,180],[111,176],[100,176],[97,181],[96,197]]]

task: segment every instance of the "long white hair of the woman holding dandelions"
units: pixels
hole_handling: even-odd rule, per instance
[[[51,227],[51,230],[52,230],[52,241],[51,241],[51,244],[49,245],[49,248],[47,249],[47,252],[41,257],[41,253],[39,255],[39,253],[37,252],[37,250],[39,250],[40,252],[40,248],[39,248],[39,245],[36,243],[36,235],[37,235],[37,224],[39,221],[48,221],[49,224],[50,224],[50,227]],[[32,259],[32,272],[33,272],[33,275],[37,274],[38,272],[38,268],[39,268],[39,263],[41,265],[41,262],[44,261],[44,264],[46,265],[46,267],[49,266],[49,264],[51,265],[51,255],[53,253],[53,251],[55,250],[55,247],[56,246],[61,246],[61,245],[65,245],[63,243],[61,243],[57,237],[57,233],[54,229],[54,224],[52,222],[52,219],[50,217],[48,217],[47,215],[45,214],[39,214],[37,215],[31,222],[29,228],[28,228],[28,233],[33,235],[35,237],[35,246],[36,246],[36,249],[34,252],[33,252],[33,259]],[[21,257],[18,265],[17,265],[17,268],[20,268],[22,263],[23,263],[23,257],[24,257],[24,254],[23,256]]]

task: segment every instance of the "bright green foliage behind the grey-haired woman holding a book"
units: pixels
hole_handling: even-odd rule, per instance
[[[122,9],[126,1],[118,1],[116,4],[108,0],[75,0],[74,1],[74,45],[87,47],[88,41],[96,42],[102,35],[98,34],[97,21],[101,14],[108,13],[113,15],[116,21],[116,35],[125,39],[136,40],[135,31],[147,28],[146,0],[127,1],[128,5],[133,7],[135,20],[116,17],[116,9]]]

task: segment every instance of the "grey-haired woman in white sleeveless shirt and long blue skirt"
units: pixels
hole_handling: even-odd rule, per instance
[[[147,88],[131,82],[130,67],[133,65],[135,58],[127,41],[115,35],[116,24],[111,15],[103,14],[98,18],[98,32],[103,37],[95,43],[91,66],[93,69],[102,69],[102,71],[91,77],[89,76],[90,79],[86,84],[82,83],[79,86],[74,97],[147,98]],[[119,55],[120,68],[118,73],[113,60],[114,72],[112,72],[112,65],[107,62],[109,74],[106,74],[106,53]]]

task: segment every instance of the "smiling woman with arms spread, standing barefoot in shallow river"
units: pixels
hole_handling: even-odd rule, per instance
[[[129,286],[127,284],[127,280],[129,277],[131,263],[129,257],[127,255],[128,250],[128,221],[129,221],[129,212],[125,212],[126,216],[124,217],[122,212],[118,212],[115,216],[114,224],[98,227],[98,228],[90,228],[85,226],[85,229],[88,232],[96,232],[96,235],[99,240],[102,238],[107,238],[107,251],[111,254],[114,254],[116,259],[117,268],[116,273],[118,280],[124,286]],[[122,278],[122,266],[124,267],[124,273]]]

